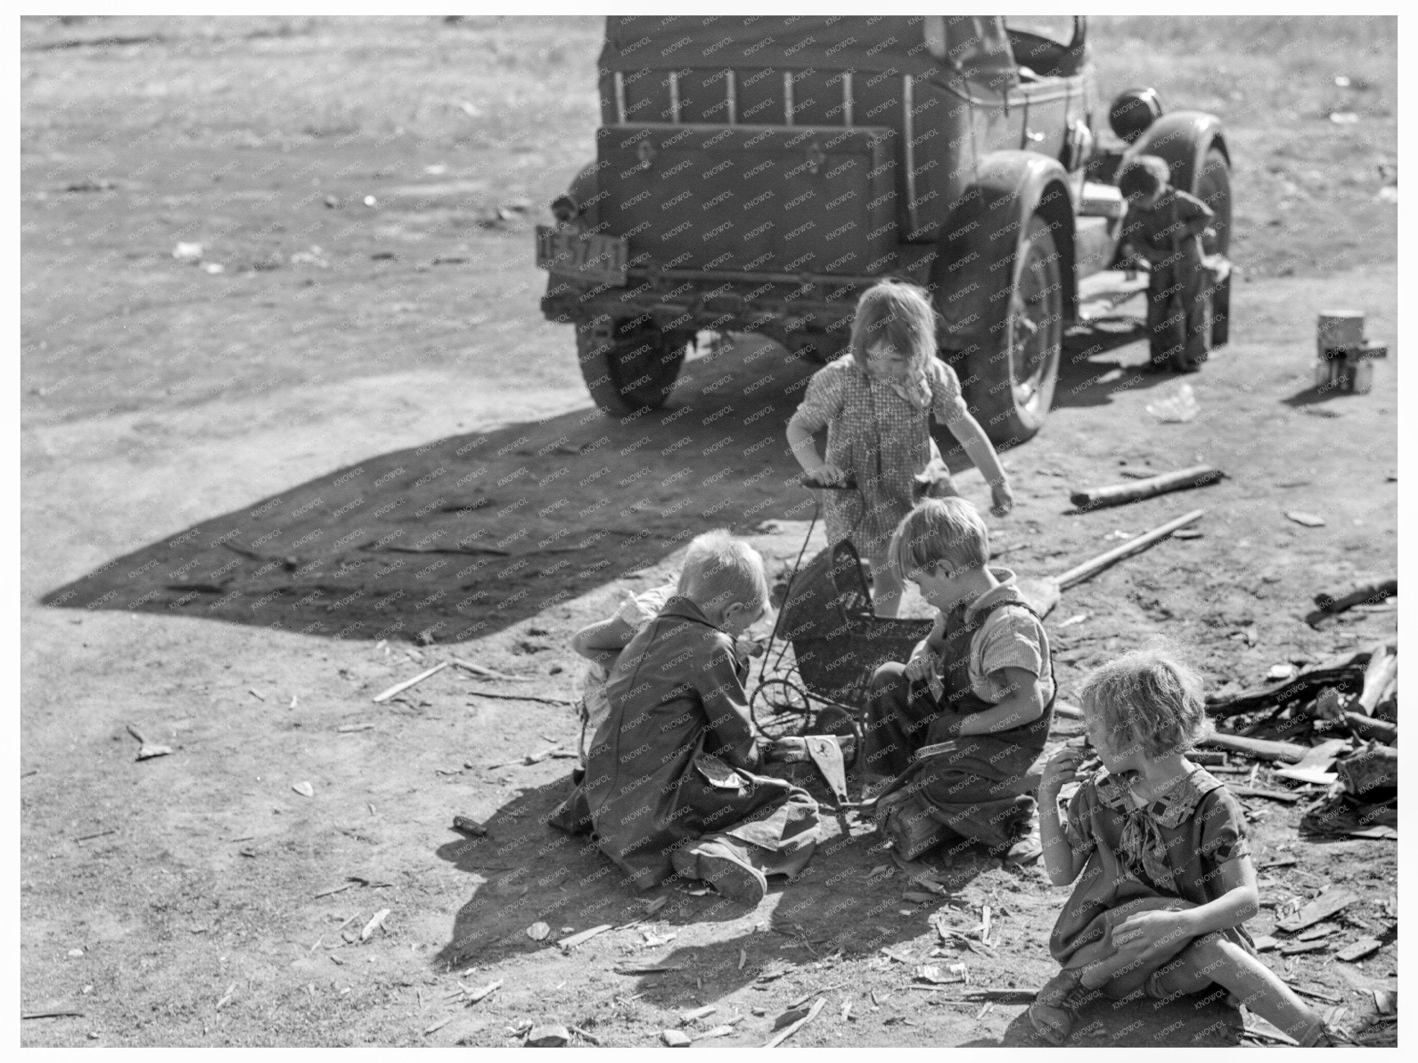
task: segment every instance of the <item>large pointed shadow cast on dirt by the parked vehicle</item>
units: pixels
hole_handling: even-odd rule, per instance
[[[811,509],[783,425],[810,367],[740,343],[664,408],[594,408],[373,456],[116,557],[45,605],[329,638],[491,635],[718,526]]]

